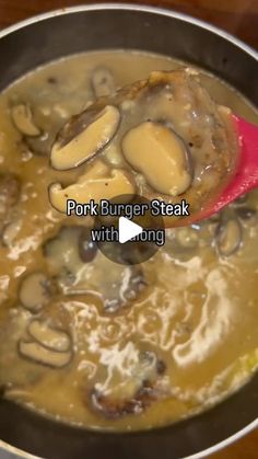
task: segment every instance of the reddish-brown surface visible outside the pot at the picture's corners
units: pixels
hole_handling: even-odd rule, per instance
[[[0,28],[34,14],[92,2],[0,0]],[[202,19],[231,32],[258,49],[258,0],[131,0],[130,2],[166,7]],[[258,459],[258,431],[256,429],[233,446],[213,455],[211,459]]]

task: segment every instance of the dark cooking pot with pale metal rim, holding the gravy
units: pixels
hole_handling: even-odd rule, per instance
[[[190,61],[227,80],[258,105],[255,50],[192,18],[130,4],[60,10],[1,32],[0,89],[49,60],[105,48],[141,49]],[[207,413],[171,427],[134,434],[68,427],[1,400],[0,438],[8,456],[0,457],[10,458],[12,445],[51,459],[201,458],[257,427],[257,416],[258,375]]]

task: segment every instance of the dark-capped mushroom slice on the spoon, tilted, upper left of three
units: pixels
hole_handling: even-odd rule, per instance
[[[113,105],[73,117],[52,146],[52,168],[64,171],[90,160],[115,136],[119,121],[119,110]]]

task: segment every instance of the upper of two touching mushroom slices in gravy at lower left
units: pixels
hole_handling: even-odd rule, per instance
[[[40,320],[33,320],[28,324],[27,332],[31,337],[49,349],[66,352],[71,348],[71,338],[67,332],[54,329]]]

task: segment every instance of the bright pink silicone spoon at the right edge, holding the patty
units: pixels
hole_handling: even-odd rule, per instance
[[[219,198],[212,202],[195,220],[210,217],[241,195],[258,187],[258,126],[233,115],[239,139],[239,160],[231,182]]]

